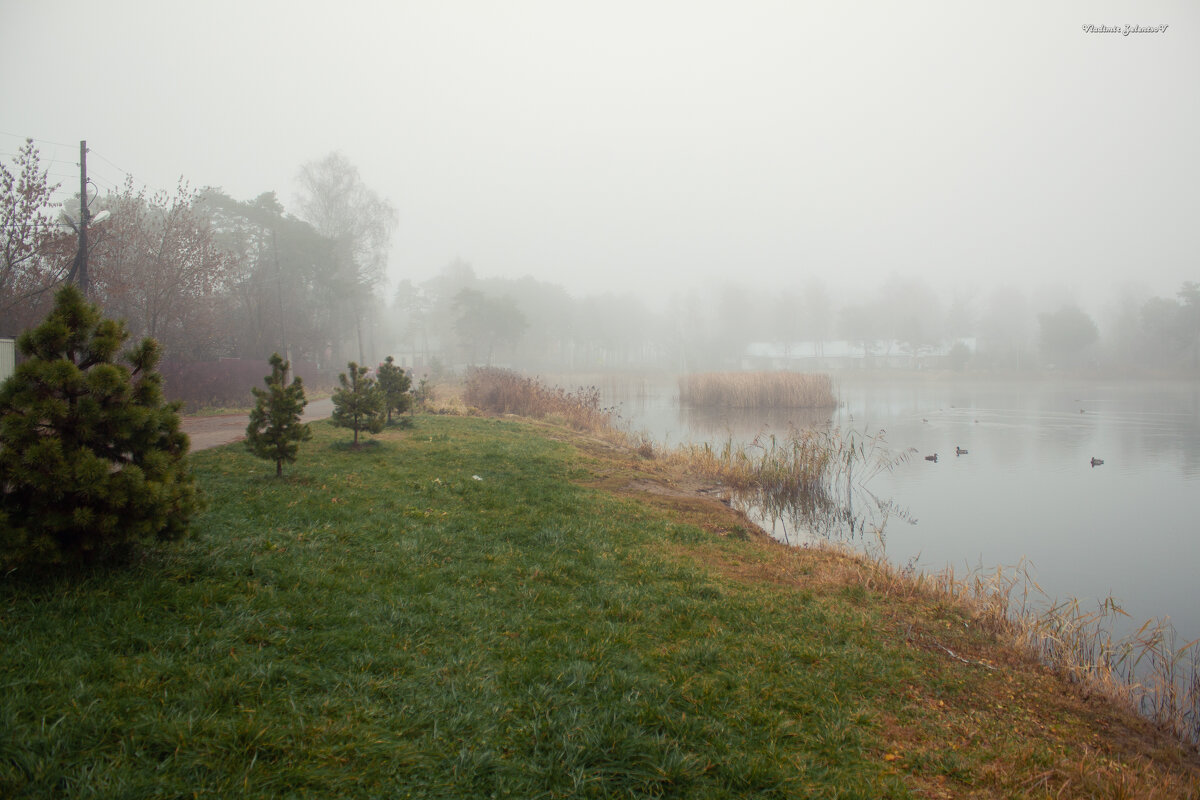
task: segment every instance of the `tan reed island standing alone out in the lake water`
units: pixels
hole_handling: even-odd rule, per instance
[[[706,372],[679,379],[679,403],[694,408],[834,408],[827,374],[806,372]]]

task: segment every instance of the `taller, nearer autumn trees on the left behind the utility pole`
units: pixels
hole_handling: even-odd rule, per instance
[[[274,192],[235,200],[218,188],[125,185],[88,199],[89,299],[157,339],[167,357],[322,363],[361,355],[396,213],[338,154],[304,164],[299,215]],[[42,319],[71,275],[79,200],[56,191],[32,140],[0,164],[0,335]]]

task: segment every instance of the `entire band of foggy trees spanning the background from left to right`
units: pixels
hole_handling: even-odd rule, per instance
[[[304,164],[296,212],[275,192],[149,192],[132,179],[89,200],[92,300],[152,336],[167,360],[271,353],[337,369],[396,354],[419,374],[469,365],[532,371],[737,368],[754,342],[848,342],[917,354],[959,343],[948,366],[991,371],[1200,371],[1200,284],[1174,296],[1123,291],[1100,313],[1012,285],[947,289],[893,275],[835,296],[726,281],[680,287],[652,309],[636,287],[577,297],[523,278],[484,278],[461,260],[382,295],[391,204],[338,154]],[[77,235],[30,140],[0,164],[0,336],[41,319],[67,279]],[[65,219],[64,219],[65,217]],[[967,344],[970,343],[970,344]]]

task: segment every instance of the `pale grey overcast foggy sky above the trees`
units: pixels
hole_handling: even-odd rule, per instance
[[[1194,0],[0,0],[0,76],[66,187],[86,139],[102,187],[295,209],[340,150],[392,282],[1200,279]]]

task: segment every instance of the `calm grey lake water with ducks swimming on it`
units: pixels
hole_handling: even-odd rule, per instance
[[[835,383],[835,413],[766,417],[689,413],[673,383],[605,389],[634,429],[666,444],[748,441],[788,422],[883,431],[893,453],[916,452],[856,504],[866,530],[883,528],[894,563],[960,570],[1024,558],[1051,597],[1111,595],[1139,625],[1169,615],[1180,644],[1200,636],[1200,383]],[[937,463],[923,458],[935,452]],[[792,542],[804,535],[776,522],[785,530]]]

